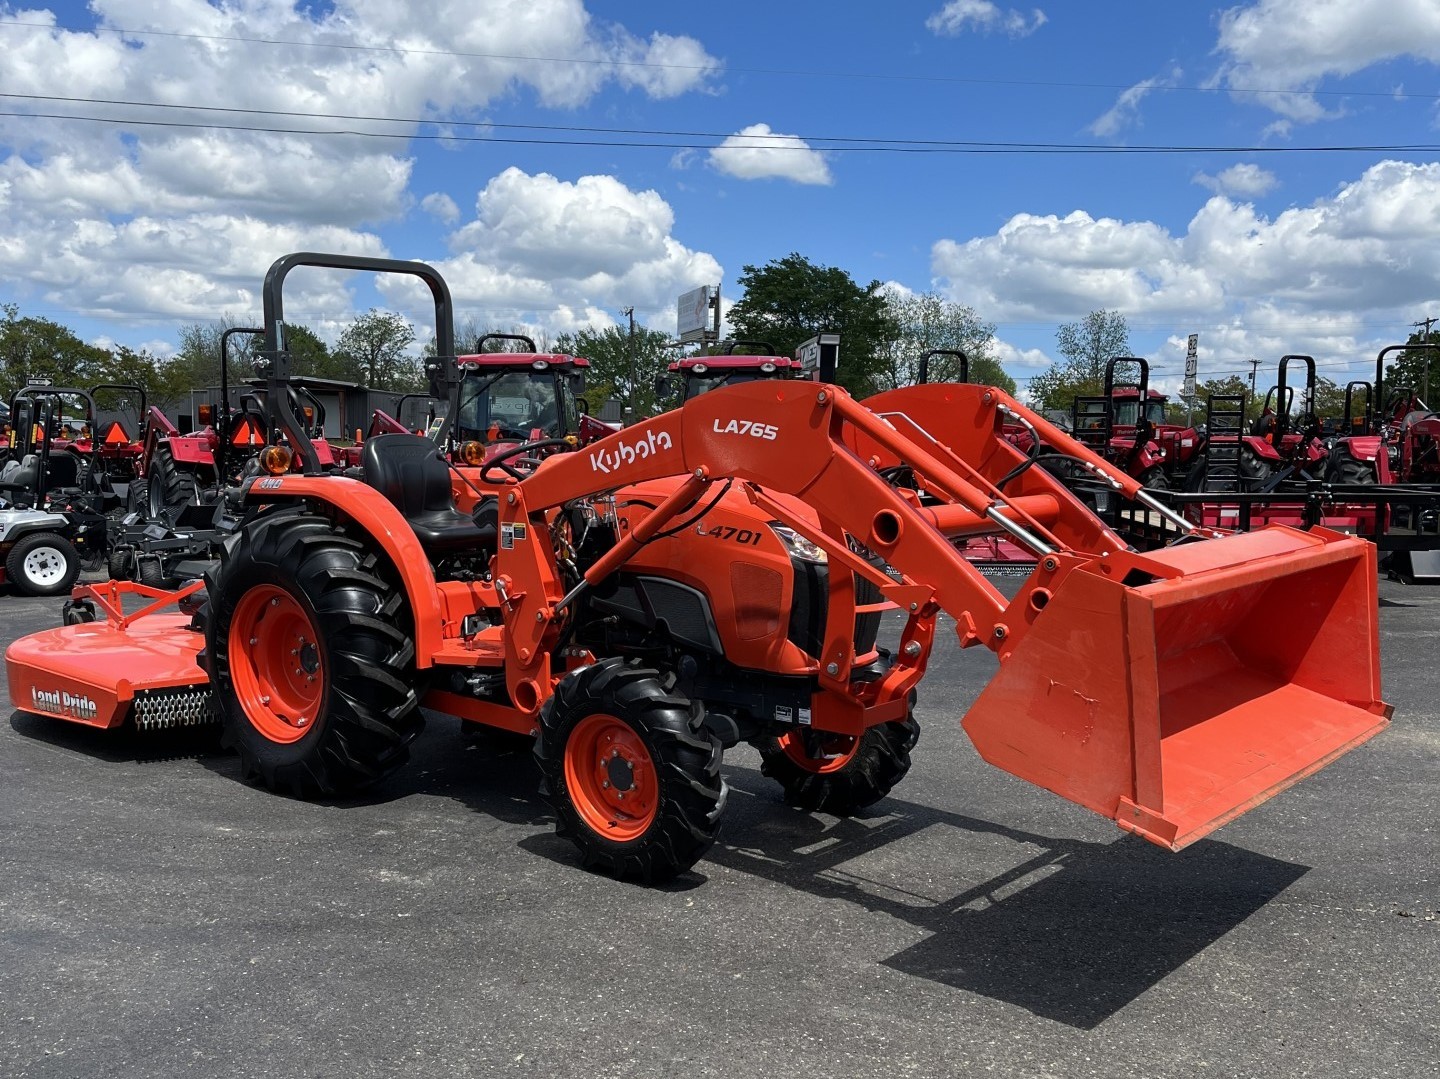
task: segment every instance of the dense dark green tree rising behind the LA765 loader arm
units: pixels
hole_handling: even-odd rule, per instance
[[[799,254],[744,267],[744,295],[727,315],[734,336],[769,341],[780,356],[793,356],[818,333],[840,334],[840,385],[857,396],[884,385],[884,352],[900,327],[886,307],[884,288],[861,288],[844,269],[818,267]]]

